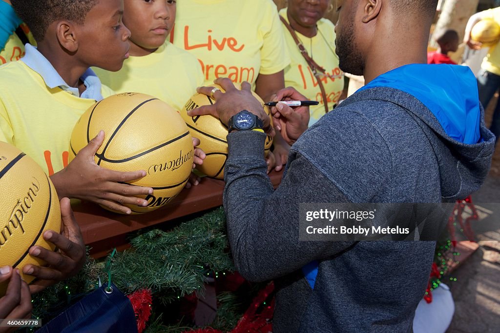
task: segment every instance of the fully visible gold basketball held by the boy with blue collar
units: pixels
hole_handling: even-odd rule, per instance
[[[194,150],[186,124],[165,102],[149,95],[122,93],[92,105],[76,123],[69,142],[69,161],[104,130],[95,154],[97,165],[115,171],[146,171],[131,185],[153,188],[141,196],[147,207],[126,205],[132,214],[156,210],[177,196],[192,170]]]

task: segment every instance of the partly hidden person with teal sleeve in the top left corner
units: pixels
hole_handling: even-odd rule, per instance
[[[26,24],[15,14],[10,0],[0,0],[0,65],[24,56],[24,45],[36,45]]]

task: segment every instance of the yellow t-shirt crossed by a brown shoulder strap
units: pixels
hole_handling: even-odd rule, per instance
[[[279,14],[285,18],[286,8],[279,11]],[[329,76],[323,76],[322,82],[326,92],[328,107],[331,110],[333,105],[338,102],[338,99],[343,91],[344,80],[340,68],[338,68],[338,57],[335,54],[335,26],[331,21],[321,18],[317,22],[317,34],[312,37],[306,37],[299,32],[296,32],[298,39],[302,42],[307,53],[314,61],[326,70]],[[310,107],[309,126],[319,120],[324,114],[324,103],[321,95],[321,89],[314,77],[312,70],[307,65],[304,57],[298,50],[297,44],[293,37],[283,25],[286,45],[290,54],[291,63],[284,70],[284,84],[297,89],[307,99],[319,102],[317,106]]]

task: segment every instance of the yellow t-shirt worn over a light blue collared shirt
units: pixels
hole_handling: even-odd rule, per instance
[[[102,94],[111,94],[102,86]],[[0,66],[0,141],[14,145],[52,175],[68,164],[69,138],[95,101],[49,89],[22,61]]]

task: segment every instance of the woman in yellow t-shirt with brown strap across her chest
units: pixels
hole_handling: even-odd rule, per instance
[[[335,26],[323,18],[329,6],[332,7],[330,0],[288,0],[288,7],[279,11],[291,58],[284,71],[285,85],[319,102],[310,108],[309,126],[333,109],[344,87],[335,54]],[[303,45],[307,60],[296,41]]]

